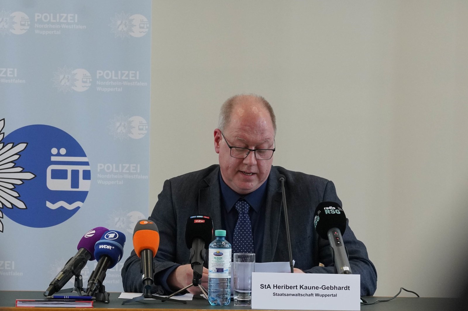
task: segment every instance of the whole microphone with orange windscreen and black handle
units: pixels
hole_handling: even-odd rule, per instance
[[[145,289],[151,289],[154,283],[153,258],[159,247],[159,231],[156,224],[150,220],[142,219],[137,222],[133,230],[133,248],[141,258],[141,281]]]

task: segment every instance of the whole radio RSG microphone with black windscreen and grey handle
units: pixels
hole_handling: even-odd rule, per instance
[[[315,209],[314,227],[320,237],[328,239],[332,249],[337,274],[352,274],[348,253],[343,244],[346,216],[343,208],[335,202],[319,203]]]

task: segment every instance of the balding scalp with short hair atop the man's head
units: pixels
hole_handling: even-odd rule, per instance
[[[273,125],[273,130],[276,135],[276,117],[271,108],[270,103],[267,102],[262,96],[255,94],[241,94],[234,95],[227,99],[226,102],[221,106],[221,111],[219,112],[219,123],[218,128],[221,131],[229,125],[233,114],[236,115],[248,115],[248,114],[258,114],[263,111],[266,111],[270,118],[271,124]]]

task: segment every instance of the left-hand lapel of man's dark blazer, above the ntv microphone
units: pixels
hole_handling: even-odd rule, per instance
[[[214,230],[221,229],[221,194],[219,188],[219,168],[213,170],[204,181],[206,187],[198,191],[198,212],[200,215],[210,216]]]

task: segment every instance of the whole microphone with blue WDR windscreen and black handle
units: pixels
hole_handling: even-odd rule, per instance
[[[95,244],[94,256],[99,259],[93,273],[89,277],[86,296],[94,296],[102,286],[107,269],[117,265],[124,253],[125,235],[116,230],[104,232]]]

